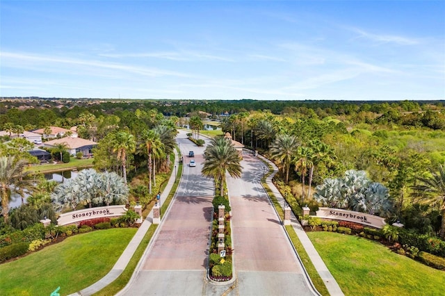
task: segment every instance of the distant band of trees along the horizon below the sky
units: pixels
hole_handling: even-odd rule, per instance
[[[343,116],[354,123],[403,124],[443,129],[445,101],[255,101],[243,100],[99,100],[99,99],[3,99],[0,101],[0,129],[7,122],[22,126],[70,126],[81,113],[95,117],[124,117],[136,110],[156,109],[164,116],[184,117],[204,111],[213,117],[256,110],[273,115],[301,114],[324,118]],[[25,128],[26,129],[26,128]],[[27,129],[26,129],[27,130]]]

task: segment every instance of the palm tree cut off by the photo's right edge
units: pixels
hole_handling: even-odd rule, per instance
[[[439,208],[442,214],[439,236],[445,239],[445,165],[439,165],[437,170],[431,169],[430,175],[420,177],[418,185],[412,188],[419,202]]]

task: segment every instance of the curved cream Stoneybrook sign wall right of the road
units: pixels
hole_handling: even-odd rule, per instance
[[[347,211],[341,208],[318,208],[316,216],[325,219],[343,220],[368,225],[370,227],[382,228],[385,226],[385,219],[366,213]]]

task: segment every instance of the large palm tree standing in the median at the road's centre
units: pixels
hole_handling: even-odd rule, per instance
[[[225,174],[239,178],[241,177],[241,158],[232,142],[223,137],[213,138],[204,151],[204,166],[202,174],[215,179],[220,184],[220,195],[224,196]]]

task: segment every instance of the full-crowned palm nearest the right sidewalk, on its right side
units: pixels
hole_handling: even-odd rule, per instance
[[[295,156],[300,142],[294,135],[277,135],[275,142],[270,145],[270,156],[282,163],[282,170],[285,176],[286,184],[289,183],[289,169]]]

